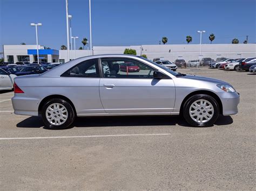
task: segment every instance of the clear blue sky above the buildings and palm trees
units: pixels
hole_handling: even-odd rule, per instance
[[[214,33],[213,44],[256,43],[255,0],[91,0],[92,45],[130,46],[159,44],[199,44],[198,30],[205,30],[202,43]],[[66,45],[65,0],[0,0],[0,52],[2,45],[36,44],[60,49]],[[89,0],[69,0],[72,35],[77,48],[89,39]]]

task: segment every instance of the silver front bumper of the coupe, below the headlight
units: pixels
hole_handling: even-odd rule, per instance
[[[240,95],[237,92],[227,93],[224,92],[220,96],[223,105],[223,115],[235,115],[238,113],[238,104],[240,102]]]

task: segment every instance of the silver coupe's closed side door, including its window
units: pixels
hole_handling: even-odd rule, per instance
[[[108,114],[170,114],[174,107],[172,79],[153,79],[156,70],[146,63],[126,58],[102,58],[110,73],[99,82],[100,100]],[[120,71],[120,65],[133,63],[138,72]]]

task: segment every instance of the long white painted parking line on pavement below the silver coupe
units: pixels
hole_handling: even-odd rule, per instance
[[[11,137],[0,138],[0,140],[15,140],[15,139],[56,139],[56,138],[91,138],[91,137],[129,137],[129,136],[163,136],[171,135],[171,133],[162,134],[124,134],[124,135],[91,135],[91,136],[68,136],[68,137]]]

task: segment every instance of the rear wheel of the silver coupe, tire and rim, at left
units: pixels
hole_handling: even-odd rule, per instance
[[[60,98],[47,101],[42,108],[42,119],[48,129],[69,128],[75,117],[75,111],[71,104]]]

